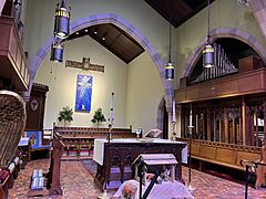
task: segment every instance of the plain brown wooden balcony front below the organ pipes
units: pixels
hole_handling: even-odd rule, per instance
[[[175,90],[175,101],[183,104],[259,93],[266,93],[265,67]]]

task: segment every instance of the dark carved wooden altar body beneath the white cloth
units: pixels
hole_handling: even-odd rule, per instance
[[[182,178],[182,149],[185,143],[105,143],[103,165],[98,165],[95,179],[101,186],[111,181],[111,168],[120,167],[121,180],[124,180],[124,166],[131,166],[140,154],[173,154],[177,160],[175,178],[184,182]]]

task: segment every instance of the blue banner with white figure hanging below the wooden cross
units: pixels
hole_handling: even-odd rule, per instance
[[[92,76],[78,75],[75,112],[91,112]]]

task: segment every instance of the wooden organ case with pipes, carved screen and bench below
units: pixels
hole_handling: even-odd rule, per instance
[[[181,78],[181,138],[188,142],[192,107],[192,158],[244,170],[242,159],[262,160],[266,137],[266,69],[254,55],[235,66],[214,44],[215,66],[193,70]]]

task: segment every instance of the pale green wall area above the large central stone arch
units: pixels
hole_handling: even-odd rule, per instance
[[[116,13],[145,35],[165,61],[168,50],[168,23],[143,0],[74,0],[71,21],[100,13]],[[57,1],[29,0],[25,50],[32,60],[52,35]],[[166,31],[165,31],[166,30]]]

